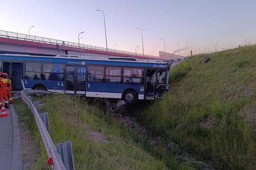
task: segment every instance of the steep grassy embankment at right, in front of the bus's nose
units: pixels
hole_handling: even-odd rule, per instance
[[[204,57],[211,61],[200,64]],[[256,167],[256,45],[197,55],[170,71],[170,91],[138,114],[166,141],[222,169]]]

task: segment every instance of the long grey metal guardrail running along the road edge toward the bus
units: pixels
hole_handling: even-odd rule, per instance
[[[31,92],[33,93],[33,91]],[[66,145],[68,145],[69,147],[71,146],[71,149],[70,148],[68,149],[68,150],[71,150],[71,152],[69,151],[68,153],[66,150],[61,150],[61,151],[57,150],[56,146],[52,142],[51,136],[49,135],[47,128],[45,127],[45,123],[42,121],[42,118],[39,115],[39,112],[38,112],[39,108],[36,108],[35,105],[32,103],[31,97],[28,97],[29,94],[30,94],[29,90],[25,90],[25,89],[20,92],[22,100],[27,104],[27,106],[30,108],[30,110],[34,115],[35,122],[37,123],[37,127],[39,129],[40,135],[44,142],[44,147],[47,152],[48,158],[52,159],[52,162],[53,162],[52,169],[53,170],[74,170],[74,161],[70,161],[70,160],[73,160],[71,141],[68,141],[67,143],[63,144],[64,146]],[[58,145],[62,145],[62,143],[58,143]],[[61,148],[61,147],[58,146],[58,148]],[[62,157],[60,156],[59,153],[61,153]],[[63,157],[63,153],[65,157]],[[69,158],[68,163],[66,162],[67,160],[66,157]],[[64,166],[64,163],[66,164],[66,167]]]

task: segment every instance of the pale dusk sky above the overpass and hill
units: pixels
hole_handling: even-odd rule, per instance
[[[108,48],[159,55],[188,47],[212,52],[256,43],[256,0],[0,0],[0,30],[39,37],[106,47],[103,13],[106,19]],[[188,55],[189,49],[180,52]],[[179,52],[176,52],[179,54]]]

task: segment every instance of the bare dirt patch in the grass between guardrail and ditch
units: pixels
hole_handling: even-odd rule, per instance
[[[85,129],[86,136],[89,138],[93,138],[93,140],[95,140],[96,142],[104,142],[104,143],[109,142],[108,138],[105,135],[103,135],[99,131],[92,129],[88,125],[84,125],[84,129]]]

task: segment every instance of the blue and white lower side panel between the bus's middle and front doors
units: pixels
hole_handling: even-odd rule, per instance
[[[142,85],[115,84],[115,83],[86,83],[87,97],[121,98],[125,89],[135,89],[139,99],[144,99],[144,88]]]

